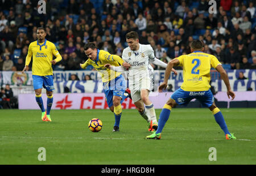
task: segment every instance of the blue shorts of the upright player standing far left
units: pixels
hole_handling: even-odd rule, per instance
[[[47,91],[53,91],[53,77],[52,75],[38,76],[32,75],[34,90],[45,88]]]

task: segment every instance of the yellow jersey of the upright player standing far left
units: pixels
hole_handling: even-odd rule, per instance
[[[38,41],[31,42],[30,46],[28,46],[25,65],[28,66],[30,64],[31,57],[33,56],[32,75],[52,75],[52,54],[56,56],[56,62],[61,61],[62,57],[52,42],[47,40],[41,44]]]

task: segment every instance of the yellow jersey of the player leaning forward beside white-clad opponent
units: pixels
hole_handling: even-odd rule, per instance
[[[104,65],[110,63],[112,66],[120,66],[123,62],[123,59],[118,55],[110,54],[108,51],[98,49],[96,60],[93,61],[89,58],[81,67],[85,69],[88,65],[92,65],[101,74],[102,82],[107,82],[117,78],[121,73],[110,70],[109,68],[104,67]]]

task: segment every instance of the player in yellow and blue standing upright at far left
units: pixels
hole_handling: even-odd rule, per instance
[[[61,55],[57,51],[56,46],[46,40],[46,29],[38,28],[36,31],[37,41],[31,42],[28,46],[28,54],[26,57],[25,67],[22,72],[28,71],[28,65],[30,64],[31,57],[32,61],[32,79],[33,86],[35,90],[36,102],[38,103],[40,109],[42,110],[42,120],[52,121],[49,115],[53,102],[52,91],[53,87],[53,77],[52,77],[52,65],[56,62],[61,61]],[[56,59],[52,59],[52,55],[55,55]],[[42,88],[46,89],[47,95],[47,109],[44,109],[42,100]]]

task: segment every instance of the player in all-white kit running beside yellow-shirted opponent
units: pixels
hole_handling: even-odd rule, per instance
[[[137,32],[131,31],[127,33],[126,41],[129,47],[123,50],[122,59],[131,65],[128,75],[131,99],[139,111],[139,114],[146,119],[148,131],[157,130],[158,122],[156,120],[154,105],[148,97],[154,85],[154,70],[150,62],[164,68],[167,67],[167,64],[155,58],[154,50],[150,45],[139,44]],[[125,71],[125,68],[122,66],[105,66],[114,71]],[[174,69],[172,71],[177,74]]]

